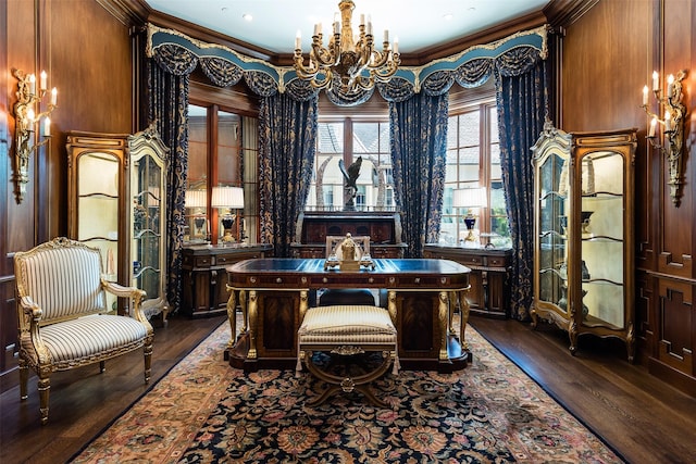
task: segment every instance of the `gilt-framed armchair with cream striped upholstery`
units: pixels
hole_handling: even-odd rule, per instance
[[[50,375],[142,348],[150,380],[152,326],[140,310],[142,290],[107,281],[99,250],[63,237],[14,255],[18,317],[20,394],[28,369],[38,375],[41,424],[48,422]],[[130,298],[129,316],[108,314],[107,294]]]

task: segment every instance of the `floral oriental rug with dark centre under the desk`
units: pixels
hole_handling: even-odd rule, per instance
[[[401,371],[360,393],[306,405],[303,372],[245,374],[223,361],[223,324],[74,463],[622,463],[472,328],[455,374]]]

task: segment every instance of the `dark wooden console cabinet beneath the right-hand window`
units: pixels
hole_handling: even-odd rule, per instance
[[[471,291],[467,300],[471,312],[488,317],[508,317],[511,248],[425,244],[423,256],[451,260],[469,267]]]

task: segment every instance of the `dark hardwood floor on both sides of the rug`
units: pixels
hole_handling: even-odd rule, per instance
[[[173,316],[169,327],[156,329],[152,381],[223,322],[224,316]],[[567,335],[551,326],[535,330],[526,323],[475,316],[470,323],[627,462],[696,462],[696,398],[629,364],[622,343],[581,338],[572,356]],[[16,381],[3,389],[0,463],[67,462],[148,388],[140,352],[108,362],[103,375],[94,365],[52,379],[46,426],[39,424],[34,378],[25,402],[20,402]]]

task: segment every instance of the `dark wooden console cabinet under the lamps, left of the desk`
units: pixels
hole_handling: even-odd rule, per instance
[[[273,254],[269,243],[194,244],[182,249],[182,308],[190,317],[226,311],[225,268],[238,261]]]

